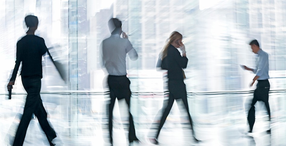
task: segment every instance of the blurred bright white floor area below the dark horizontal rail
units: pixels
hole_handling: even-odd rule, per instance
[[[148,95],[148,96],[147,96]],[[0,145],[10,145],[21,118],[25,95],[14,99],[1,98]],[[108,98],[102,94],[41,94],[49,114],[49,122],[57,132],[53,140],[58,146],[108,146],[109,132],[106,107]],[[145,97],[145,98],[144,98]],[[284,146],[286,144],[285,95],[271,93],[271,124],[263,103],[256,103],[256,122],[253,133],[248,134],[246,115],[252,93],[195,94],[189,95],[189,108],[194,121],[195,142],[187,113],[178,100],[161,130],[159,145],[218,145],[218,146]],[[167,99],[167,98],[166,98]],[[154,145],[162,106],[167,103],[163,94],[138,93],[132,96],[131,111],[134,117],[139,143],[131,145]],[[128,145],[128,110],[125,101],[116,100],[113,111],[114,145]],[[271,134],[266,133],[271,128]],[[32,117],[24,146],[48,145],[36,117]]]

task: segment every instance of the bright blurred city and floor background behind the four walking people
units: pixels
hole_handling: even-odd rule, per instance
[[[57,145],[108,145],[109,99],[99,45],[110,36],[107,22],[112,17],[122,21],[122,30],[139,56],[137,61],[127,59],[127,76],[136,133],[145,142],[141,145],[151,145],[148,138],[156,133],[152,123],[160,119],[165,102],[165,72],[155,66],[172,31],[183,34],[186,46],[185,83],[195,130],[203,140],[199,145],[286,143],[286,0],[0,0],[0,5],[0,145],[13,139],[26,98],[19,75],[12,100],[7,100],[6,86],[15,65],[17,40],[27,31],[27,14],[39,18],[36,35],[53,47],[53,58],[68,69],[65,83],[49,57],[43,56],[41,97],[58,133]],[[254,74],[240,65],[255,67],[255,54],[248,45],[252,39],[269,53],[271,137],[261,134],[268,124],[262,103],[256,106],[258,134],[251,138],[244,134],[255,86],[249,87]],[[187,114],[177,103],[161,132],[162,145],[192,143]],[[118,145],[128,144],[125,104],[118,101],[114,112]],[[31,120],[24,145],[39,143],[35,135],[43,145],[47,142],[37,124]],[[185,131],[189,135],[182,134]]]

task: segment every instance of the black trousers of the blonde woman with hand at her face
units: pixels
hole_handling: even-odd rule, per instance
[[[192,132],[193,132],[192,134],[195,135],[194,134],[194,130],[193,130],[192,118],[191,118],[191,115],[190,115],[190,112],[189,112],[186,84],[184,83],[183,80],[182,81],[169,80],[168,81],[168,87],[169,87],[169,92],[170,92],[169,93],[168,105],[165,108],[163,116],[161,118],[156,138],[158,138],[158,136],[160,134],[160,131],[161,131],[161,129],[162,129],[166,119],[167,119],[167,116],[169,115],[169,113],[170,113],[170,111],[172,109],[174,101],[178,100],[178,99],[182,99],[183,100],[183,103],[184,103],[184,105],[186,107],[186,110],[187,110],[187,113],[188,113],[188,116],[189,116],[189,120],[190,120],[190,123],[191,123]]]

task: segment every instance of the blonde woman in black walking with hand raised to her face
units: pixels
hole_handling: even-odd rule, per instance
[[[194,130],[193,130],[193,123],[192,118],[189,113],[189,105],[187,101],[187,91],[186,91],[186,84],[184,83],[185,74],[182,68],[186,68],[188,64],[188,58],[186,57],[186,49],[184,44],[182,43],[182,34],[179,32],[172,32],[169,40],[166,42],[165,46],[161,52],[161,68],[168,70],[168,89],[169,89],[169,99],[168,105],[164,110],[163,116],[160,121],[159,129],[156,136],[155,143],[158,144],[158,136],[160,131],[167,119],[167,116],[170,113],[170,110],[173,106],[175,100],[182,99],[183,103],[186,107],[189,121],[191,123],[193,136],[195,138]],[[182,51],[182,56],[178,49]],[[197,139],[195,138],[197,141]]]

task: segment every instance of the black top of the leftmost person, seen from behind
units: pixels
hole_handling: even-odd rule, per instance
[[[42,56],[46,53],[44,39],[35,35],[26,35],[17,43],[17,57],[21,57],[22,76],[42,76]]]

